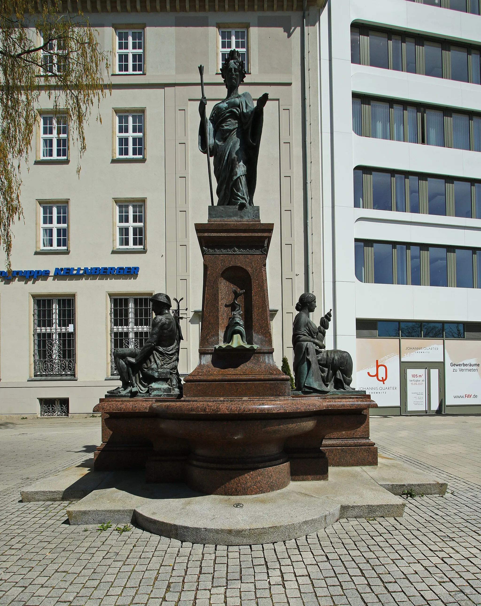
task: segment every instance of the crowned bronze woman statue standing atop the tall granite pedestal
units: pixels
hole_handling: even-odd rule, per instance
[[[199,103],[200,127],[198,147],[214,157],[218,206],[237,206],[240,210],[254,204],[257,181],[257,159],[262,135],[264,106],[269,98],[264,93],[254,105],[249,93],[239,93],[246,70],[237,50],[231,50],[220,70],[227,88],[224,101],[214,105],[205,134],[207,99]]]

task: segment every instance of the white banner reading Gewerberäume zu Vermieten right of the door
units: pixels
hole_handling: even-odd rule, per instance
[[[446,405],[481,402],[481,341],[445,341]]]

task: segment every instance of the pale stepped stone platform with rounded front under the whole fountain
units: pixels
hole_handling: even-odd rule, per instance
[[[139,471],[97,472],[71,467],[21,490],[24,501],[78,499],[67,507],[71,525],[134,523],[179,541],[252,545],[315,533],[343,518],[404,514],[400,494],[444,494],[430,474],[379,456],[379,465],[330,467],[328,481],[291,482],[272,493],[220,496],[185,484],[147,484]]]

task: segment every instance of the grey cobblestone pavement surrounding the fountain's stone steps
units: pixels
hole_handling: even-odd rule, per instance
[[[63,467],[89,456],[82,447],[94,442],[85,438],[65,436]],[[447,495],[409,499],[404,518],[344,519],[250,547],[70,527],[67,503],[18,502],[19,480],[0,491],[0,605],[481,604],[481,488],[399,458],[447,479]],[[59,460],[50,465],[39,477]]]

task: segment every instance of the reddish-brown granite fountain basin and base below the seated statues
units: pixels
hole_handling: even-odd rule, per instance
[[[145,468],[148,482],[186,482],[205,494],[266,493],[291,479],[326,480],[336,449],[337,465],[376,465],[377,448],[368,439],[373,407],[370,396],[348,394],[101,399],[94,408],[102,413],[94,465]],[[325,439],[336,440],[327,452]]]

